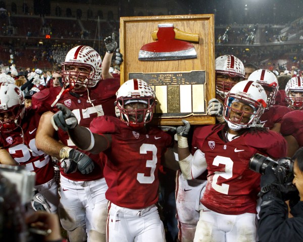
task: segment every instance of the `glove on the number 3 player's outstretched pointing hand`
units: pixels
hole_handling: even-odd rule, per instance
[[[78,125],[78,119],[75,114],[64,106],[61,103],[56,104],[56,106],[60,109],[57,113],[52,117],[52,125],[55,130],[58,130],[58,127],[64,131],[68,129],[73,129]]]

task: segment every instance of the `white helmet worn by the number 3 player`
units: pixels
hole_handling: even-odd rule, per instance
[[[140,128],[153,118],[153,109],[156,105],[155,91],[143,80],[131,79],[126,81],[119,88],[116,95],[117,101],[115,104],[120,110],[120,118],[129,126]],[[147,107],[144,109],[126,109],[125,105],[131,102],[145,103]],[[133,118],[130,118],[130,116]]]

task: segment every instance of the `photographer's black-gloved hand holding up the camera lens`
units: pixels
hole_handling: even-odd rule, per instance
[[[275,196],[286,201],[292,196],[292,193],[297,191],[292,184],[281,184],[271,166],[267,166],[265,174],[261,176],[260,186],[261,191],[258,196],[262,198],[264,198],[263,196]]]

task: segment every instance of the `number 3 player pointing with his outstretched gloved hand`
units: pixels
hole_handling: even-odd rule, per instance
[[[108,156],[104,175],[109,186],[108,241],[165,241],[158,201],[158,170],[161,165],[178,168],[170,148],[171,136],[147,126],[156,104],[154,90],[146,82],[132,79],[117,92],[120,118],[99,116],[90,129],[78,125],[65,106],[54,115],[54,123],[68,129],[81,149]],[[117,152],[118,151],[118,152]]]

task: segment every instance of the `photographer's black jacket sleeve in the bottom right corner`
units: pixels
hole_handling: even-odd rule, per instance
[[[303,217],[288,218],[287,205],[282,199],[264,195],[259,215],[260,242],[303,241]]]

